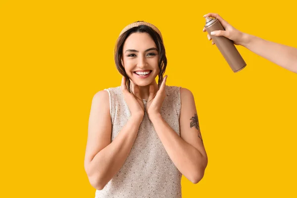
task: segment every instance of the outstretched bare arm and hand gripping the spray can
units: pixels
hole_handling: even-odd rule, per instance
[[[210,33],[211,36],[207,34],[208,40],[212,40],[212,36],[224,36],[234,41],[235,45],[241,45],[256,53],[257,55],[262,56],[263,58],[266,58],[267,60],[289,71],[297,73],[296,48],[273,43],[256,36],[243,33],[231,26],[218,14],[208,13],[204,15],[204,17],[206,16],[217,18],[225,29],[225,31],[213,31]],[[203,28],[203,32],[206,32],[205,28]],[[214,45],[213,42],[212,44]]]

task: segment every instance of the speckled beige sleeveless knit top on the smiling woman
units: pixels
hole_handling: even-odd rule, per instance
[[[109,94],[113,141],[131,113],[120,87],[105,90]],[[160,113],[180,136],[180,87],[166,86],[165,93]],[[143,102],[146,106],[147,101]],[[96,198],[181,198],[181,178],[145,112],[127,159],[106,186],[96,190]]]

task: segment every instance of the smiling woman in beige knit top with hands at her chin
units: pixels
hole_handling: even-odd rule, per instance
[[[96,198],[181,198],[182,175],[196,184],[207,165],[193,94],[166,86],[162,35],[150,23],[126,26],[114,57],[121,85],[95,94],[89,119]]]

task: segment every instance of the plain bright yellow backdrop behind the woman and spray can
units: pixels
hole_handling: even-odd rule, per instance
[[[0,1],[1,198],[94,198],[84,171],[91,101],[120,85],[113,49],[137,20],[162,32],[167,85],[190,89],[209,157],[183,198],[297,197],[297,74],[238,47],[233,73],[204,14],[297,47],[296,1]]]

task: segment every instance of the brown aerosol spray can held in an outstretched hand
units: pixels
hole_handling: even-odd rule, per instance
[[[233,72],[235,73],[245,68],[247,63],[236,49],[233,41],[223,36],[212,36],[210,34],[210,32],[215,30],[225,30],[219,20],[208,16],[205,19],[206,24],[204,27],[207,33],[220,50]]]

